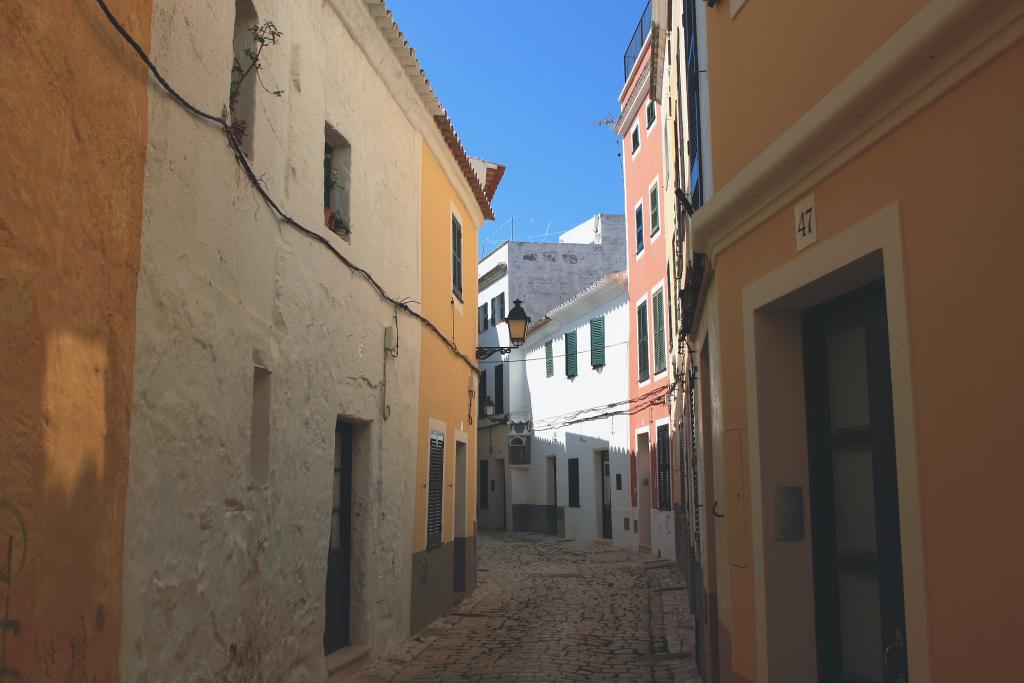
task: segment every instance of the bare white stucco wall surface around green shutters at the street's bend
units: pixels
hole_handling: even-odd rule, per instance
[[[598,453],[607,450],[611,479],[612,542],[636,548],[630,502],[629,417],[605,417],[562,426],[566,413],[601,407],[627,398],[629,362],[629,312],[624,280],[605,282],[584,296],[549,313],[552,321],[535,331],[510,355],[511,415],[534,426],[531,462],[516,468],[510,492],[513,504],[564,508],[565,536],[582,541],[601,538],[601,478]],[[590,319],[605,318],[605,366],[593,368],[590,359]],[[564,334],[577,331],[578,375],[565,377]],[[545,342],[553,340],[554,375],[547,377]],[[545,428],[555,426],[555,428]],[[556,463],[557,498],[552,500],[548,458]],[[580,507],[569,508],[568,460],[580,459]],[[616,475],[622,488],[615,486]],[[625,528],[625,520],[630,528]]]

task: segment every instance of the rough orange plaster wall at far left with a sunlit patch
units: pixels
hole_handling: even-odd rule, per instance
[[[116,681],[143,68],[93,2],[0,25],[0,678]]]

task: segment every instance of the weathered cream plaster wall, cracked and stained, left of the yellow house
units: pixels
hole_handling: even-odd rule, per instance
[[[387,291],[419,300],[418,130],[432,120],[365,3],[255,7],[284,32],[262,77],[285,90],[257,97],[256,172]],[[156,5],[155,60],[207,111],[226,102],[232,22],[232,3]],[[421,329],[399,314],[387,355],[393,306],[274,220],[215,127],[151,101],[122,675],[323,679],[339,417],[357,423],[352,641],[408,634]],[[350,243],[323,227],[325,122],[352,146]],[[271,372],[265,485],[249,468],[254,366]]]

